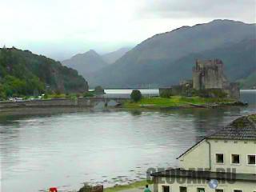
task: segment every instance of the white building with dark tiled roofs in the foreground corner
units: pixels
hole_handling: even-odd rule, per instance
[[[256,192],[256,115],[236,119],[151,174],[154,192]]]

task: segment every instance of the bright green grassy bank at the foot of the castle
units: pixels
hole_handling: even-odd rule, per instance
[[[125,108],[138,109],[138,108],[175,108],[175,107],[207,107],[216,106],[221,104],[234,103],[236,100],[230,98],[200,98],[200,97],[182,97],[173,96],[171,98],[142,98],[139,102],[127,101],[124,103]]]

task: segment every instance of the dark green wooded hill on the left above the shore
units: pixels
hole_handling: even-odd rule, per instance
[[[0,49],[0,96],[32,95],[46,90],[84,92],[87,82],[76,70],[29,50]]]

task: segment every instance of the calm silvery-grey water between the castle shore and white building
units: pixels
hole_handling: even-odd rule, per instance
[[[198,139],[234,118],[256,113],[255,91],[242,92],[242,100],[250,106],[2,114],[2,191],[32,192],[50,186],[78,190],[83,182],[112,186],[141,180],[150,167],[178,166],[178,155]]]

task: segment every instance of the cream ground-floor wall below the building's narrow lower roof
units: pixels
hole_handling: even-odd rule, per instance
[[[154,183],[157,187],[154,188],[154,192],[163,192],[162,186],[170,186],[170,192],[179,192],[180,186],[186,186],[187,192],[197,192],[197,188],[204,188],[206,192],[215,192],[208,186],[208,181],[193,179],[190,182],[186,178],[183,180],[184,183],[180,183],[174,178],[158,178],[158,183]],[[170,182],[171,181],[171,182]],[[174,182],[174,183],[173,183]],[[225,181],[218,181],[219,185],[217,189],[223,189],[224,192],[234,192],[234,190],[242,190],[243,192],[255,192],[256,183],[255,182],[242,182],[236,181],[234,183],[228,183]]]

